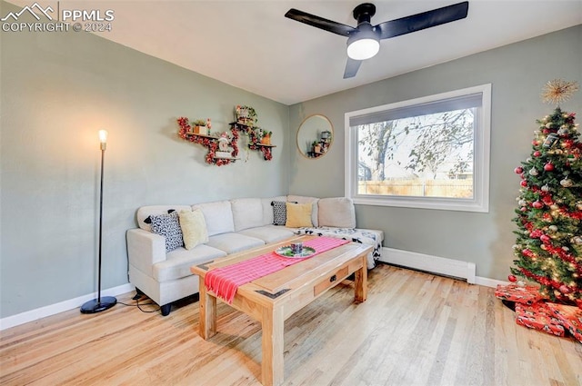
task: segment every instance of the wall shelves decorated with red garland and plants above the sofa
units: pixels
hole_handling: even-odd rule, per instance
[[[267,132],[256,126],[258,121],[256,111],[250,106],[236,106],[236,122],[230,124],[230,134],[210,134],[210,120],[207,120],[206,127],[208,131],[196,130],[195,122],[190,123],[188,118],[180,117],[177,119],[180,130],[178,136],[188,142],[201,144],[208,149],[206,154],[206,163],[216,164],[217,166],[234,163],[240,160],[238,157],[238,139],[240,134],[248,135],[248,148],[263,153],[266,161],[273,159],[272,149],[276,145],[271,144],[271,132]]]

